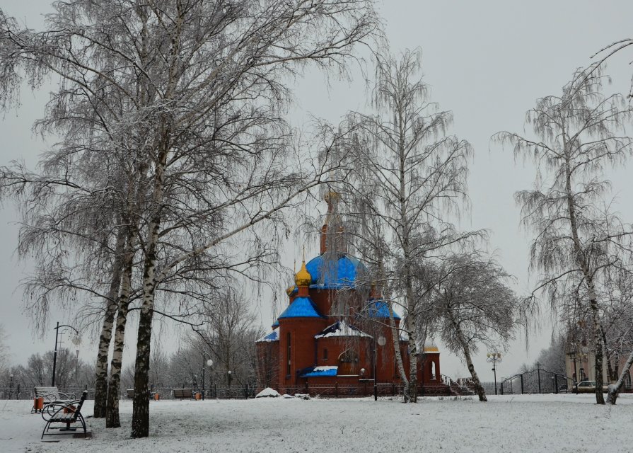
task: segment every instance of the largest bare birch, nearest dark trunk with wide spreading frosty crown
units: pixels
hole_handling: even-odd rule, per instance
[[[86,0],[56,7],[41,33],[2,16],[1,84],[14,88],[21,65],[32,84],[52,72],[95,105],[107,93],[116,102],[100,117],[103,134],[117,144],[117,137],[136,137],[106,149],[146,168],[146,202],[137,213],[143,265],[132,420],[132,436],[146,437],[157,291],[221,267],[223,243],[275,219],[296,195],[323,182],[329,159],[298,171],[288,159],[279,115],[289,93],[281,81],[307,62],[344,71],[354,43],[376,29],[375,16],[364,0]],[[260,250],[262,244],[255,239]]]

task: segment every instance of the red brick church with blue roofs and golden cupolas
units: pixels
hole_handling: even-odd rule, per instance
[[[328,200],[328,220],[335,207]],[[371,394],[374,379],[381,394],[400,386],[388,304],[374,285],[364,285],[367,269],[340,244],[332,246],[328,223],[321,229],[320,255],[296,273],[287,289],[289,304],[257,340],[260,388],[281,394]],[[340,242],[340,241],[339,241]],[[328,250],[328,246],[333,250]],[[409,370],[407,340],[400,316],[393,314],[403,365]],[[419,357],[419,392],[446,394],[439,350],[427,344]]]

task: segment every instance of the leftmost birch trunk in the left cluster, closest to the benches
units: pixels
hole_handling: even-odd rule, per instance
[[[112,326],[114,325],[117,311],[117,296],[121,285],[122,253],[125,246],[125,230],[120,229],[115,248],[115,259],[112,263],[112,282],[108,290],[108,299],[105,302],[105,314],[103,326],[99,336],[99,348],[97,351],[97,363],[95,365],[95,408],[94,418],[105,417],[105,406],[108,398],[108,352],[112,341]]]

